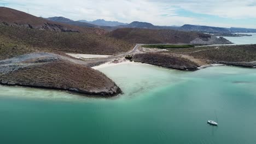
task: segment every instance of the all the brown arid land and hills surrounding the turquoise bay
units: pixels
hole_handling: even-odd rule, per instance
[[[225,38],[201,32],[125,26],[109,31],[109,27],[73,25],[65,18],[56,22],[4,7],[0,11],[2,85],[63,89],[109,97],[119,94],[120,88],[90,67],[123,61],[125,56],[130,56],[131,61],[179,70],[197,70],[216,63],[255,67],[255,45],[198,46],[231,44]],[[140,24],[132,25],[139,27]],[[145,45],[148,47],[145,50],[143,45],[136,44],[172,44],[174,47],[160,50],[157,46]],[[66,53],[111,56],[82,60]]]

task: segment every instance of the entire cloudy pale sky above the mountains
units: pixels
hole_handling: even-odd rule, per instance
[[[256,28],[256,0],[0,0],[0,5],[72,20]]]

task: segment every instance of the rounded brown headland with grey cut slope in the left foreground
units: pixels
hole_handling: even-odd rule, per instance
[[[101,97],[112,97],[121,92],[100,71],[51,53],[31,53],[0,61],[0,83],[60,89]]]

